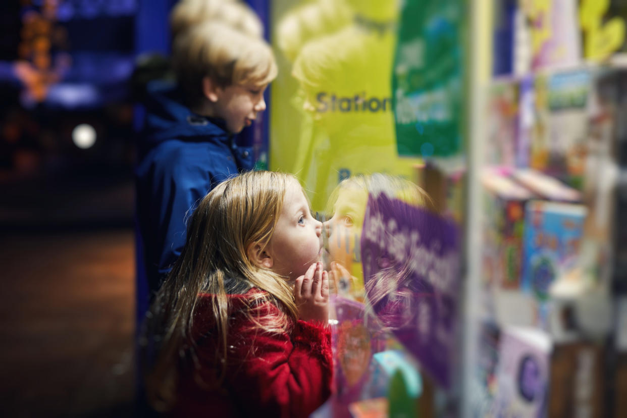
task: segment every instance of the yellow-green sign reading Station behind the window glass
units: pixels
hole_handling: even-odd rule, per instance
[[[320,212],[351,175],[411,179],[420,160],[398,157],[391,106],[398,4],[292,3],[273,2],[270,169],[297,175]]]

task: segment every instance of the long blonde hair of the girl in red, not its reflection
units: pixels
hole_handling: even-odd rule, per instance
[[[147,352],[150,343],[159,345],[145,379],[147,397],[155,409],[172,406],[179,375],[190,362],[199,368],[192,327],[201,293],[213,295],[210,304],[218,347],[213,365],[216,379],[201,384],[219,387],[224,380],[229,293],[245,293],[253,287],[265,291],[246,301],[246,315],[260,332],[285,332],[290,318],[297,319],[286,278],[256,265],[247,255],[251,245],[259,244],[263,250],[270,241],[285,191],[296,181],[292,175],[278,172],[241,174],[216,186],[194,211],[181,256],[155,296],[147,318]],[[276,305],[284,315],[263,318],[263,323],[255,320],[255,306],[266,302]]]

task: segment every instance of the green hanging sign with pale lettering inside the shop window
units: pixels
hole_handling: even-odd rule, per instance
[[[460,152],[464,17],[460,0],[404,2],[392,78],[399,155]]]

